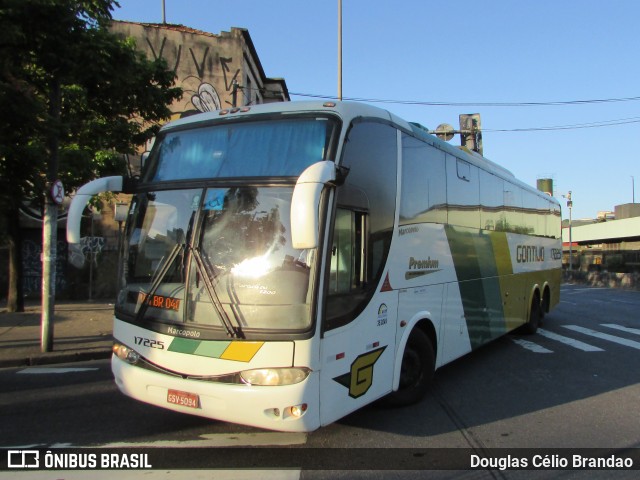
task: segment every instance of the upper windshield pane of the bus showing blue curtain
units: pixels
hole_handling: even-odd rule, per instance
[[[299,176],[327,159],[335,126],[327,117],[296,117],[169,131],[143,181]]]

